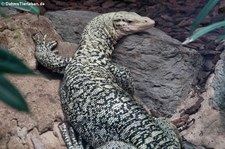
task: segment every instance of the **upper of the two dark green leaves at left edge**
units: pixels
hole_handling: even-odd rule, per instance
[[[1,73],[34,74],[21,60],[3,48],[0,48],[0,74]]]

